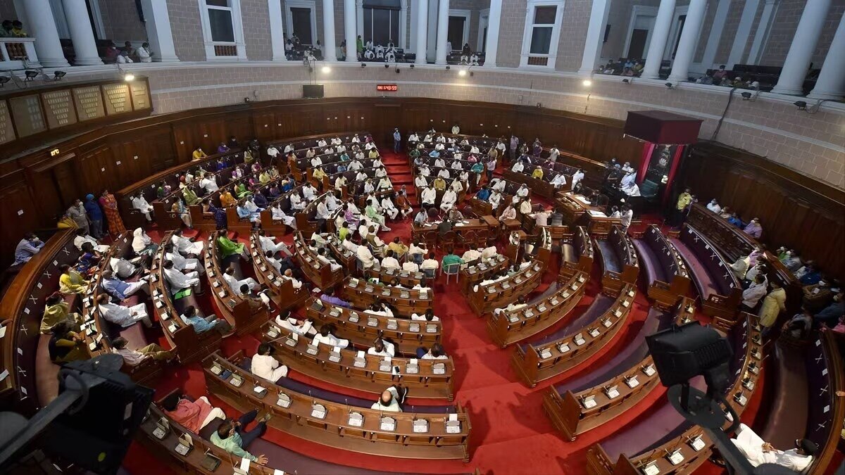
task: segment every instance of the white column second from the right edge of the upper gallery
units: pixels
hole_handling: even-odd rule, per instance
[[[781,77],[771,92],[777,94],[801,95],[804,93],[804,77],[813,59],[815,46],[819,42],[819,35],[825,25],[827,11],[831,8],[831,0],[808,0],[804,5],[804,13],[795,30],[792,45],[789,46],[787,59],[783,62]],[[842,55],[842,51],[830,49],[835,55]],[[39,53],[41,56],[41,53]]]

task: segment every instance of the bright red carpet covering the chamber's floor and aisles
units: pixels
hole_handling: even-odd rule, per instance
[[[395,188],[399,188],[401,184],[406,184],[409,194],[413,194],[412,176],[407,167],[406,157],[387,152],[384,154],[384,164],[390,170],[390,177],[394,181]],[[659,222],[656,219],[650,221]],[[393,231],[385,233],[383,237],[385,241],[399,236],[407,242],[410,237],[409,223],[396,222],[389,226],[393,228]],[[150,231],[150,236],[154,238],[157,238],[157,234],[155,230]],[[289,242],[290,237],[286,237],[285,240]],[[549,264],[543,278],[542,287],[539,290],[542,290],[546,284],[553,281],[557,276],[559,255],[554,254],[552,260],[553,262]],[[244,270],[247,270],[248,267],[244,266]],[[598,271],[594,271],[587,295],[573,311],[573,317],[581,314],[589,307],[600,288],[599,279]],[[586,473],[587,447],[601,441],[609,434],[613,434],[616,428],[624,426],[624,424],[630,423],[648,412],[650,407],[666,403],[662,388],[655,390],[645,401],[641,401],[634,410],[626,412],[613,424],[606,424],[583,434],[575,442],[564,442],[559,434],[554,432],[552,424],[542,413],[542,395],[548,391],[548,385],[558,384],[565,379],[574,377],[576,374],[588,372],[591,365],[606,361],[614,352],[618,352],[620,348],[627,345],[630,338],[635,335],[637,325],[642,325],[642,321],[648,314],[649,305],[642,292],[638,294],[635,300],[635,307],[628,325],[612,345],[599,352],[590,361],[571,369],[567,374],[551,379],[537,388],[528,389],[518,382],[513,370],[510,369],[509,360],[513,348],[500,349],[493,345],[485,328],[485,320],[472,313],[466,299],[461,295],[459,286],[452,283],[450,287],[445,287],[443,281],[438,281],[433,287],[436,296],[435,314],[439,315],[444,325],[444,347],[455,358],[457,368],[455,399],[471,412],[472,435],[470,444],[472,460],[468,464],[461,461],[418,461],[366,456],[309,443],[275,429],[269,429],[264,435],[264,439],[320,460],[382,471],[457,473],[472,472],[479,468],[482,473],[495,472],[497,475],[524,473],[581,474]],[[206,312],[213,310],[210,308],[212,305],[210,300],[203,303],[207,305],[204,308]],[[552,332],[556,328],[549,329],[548,332]],[[249,355],[254,352],[256,346],[257,341],[252,336],[241,338],[232,336],[224,342],[223,352],[229,355],[232,352],[244,349]],[[308,379],[303,374],[292,374],[291,377],[351,396],[368,397],[366,394],[357,394],[353,390],[332,387],[320,381]],[[192,396],[205,394],[204,376],[199,369],[199,364],[190,365],[188,368],[175,369],[173,374],[170,374],[158,386],[156,397],[161,397],[167,391],[177,387],[183,388],[185,392]],[[754,420],[756,408],[759,407],[762,397],[761,393],[762,391],[755,391],[755,397],[752,398],[749,407],[744,412],[744,421]],[[212,402],[219,403],[220,401]],[[415,401],[411,402],[415,403]],[[226,408],[226,412],[230,415],[236,413],[225,405],[221,404],[221,406]],[[172,473],[169,468],[156,461],[137,443],[129,451],[124,461],[124,467],[128,472],[136,475]],[[720,473],[722,470],[708,465],[699,472],[709,475]]]

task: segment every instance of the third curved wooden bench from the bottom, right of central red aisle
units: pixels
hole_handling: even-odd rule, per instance
[[[598,319],[570,330],[569,334],[542,344],[516,347],[511,366],[530,387],[575,368],[613,341],[634,306],[636,287],[626,285],[613,305]]]

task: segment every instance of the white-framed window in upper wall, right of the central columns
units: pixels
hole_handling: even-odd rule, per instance
[[[554,68],[563,12],[563,0],[528,1],[521,66]]]

